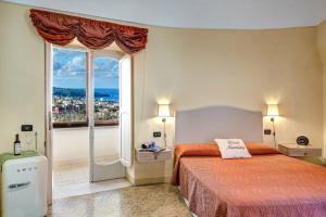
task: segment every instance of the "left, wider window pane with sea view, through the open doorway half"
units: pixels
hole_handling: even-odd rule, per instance
[[[86,122],[86,52],[53,48],[53,123]]]

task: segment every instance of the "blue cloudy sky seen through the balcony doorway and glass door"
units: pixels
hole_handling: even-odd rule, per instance
[[[110,58],[93,61],[95,88],[118,88],[118,62]],[[53,87],[86,88],[86,52],[53,49]]]

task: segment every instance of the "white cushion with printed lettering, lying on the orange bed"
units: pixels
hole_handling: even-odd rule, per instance
[[[241,139],[215,139],[222,158],[247,158],[251,157],[246,144]]]

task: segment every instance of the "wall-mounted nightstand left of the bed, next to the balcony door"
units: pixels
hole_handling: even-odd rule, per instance
[[[158,153],[154,152],[139,152],[138,149],[136,151],[136,158],[138,162],[163,162],[172,158],[172,150],[164,150]]]

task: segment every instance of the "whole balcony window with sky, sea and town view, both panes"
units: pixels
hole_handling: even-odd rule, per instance
[[[88,114],[88,52],[53,48],[53,127],[85,127],[93,115],[96,126],[118,125],[118,61],[109,55],[91,60],[93,114]]]

